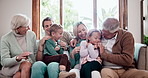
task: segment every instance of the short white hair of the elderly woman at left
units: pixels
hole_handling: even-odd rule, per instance
[[[11,29],[15,30],[21,26],[27,27],[30,24],[30,19],[23,14],[16,14],[11,20]]]

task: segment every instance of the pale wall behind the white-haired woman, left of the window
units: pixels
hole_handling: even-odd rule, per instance
[[[25,14],[31,18],[32,0],[0,0],[0,38],[11,30],[11,18],[18,13]]]

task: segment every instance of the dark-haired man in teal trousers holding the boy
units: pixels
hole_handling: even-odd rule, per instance
[[[51,62],[48,65],[46,65],[44,62],[42,62],[44,43],[46,40],[50,38],[48,30],[52,24],[53,20],[50,17],[46,17],[42,22],[42,27],[45,31],[45,37],[43,37],[39,42],[38,52],[36,56],[37,62],[35,62],[32,66],[31,78],[58,78],[59,76],[59,63]],[[64,36],[63,38],[61,38],[61,40],[71,40],[71,36],[69,35],[69,33],[64,32],[63,35]],[[68,42],[63,41],[61,42],[61,45],[66,46],[66,43],[68,44]]]

